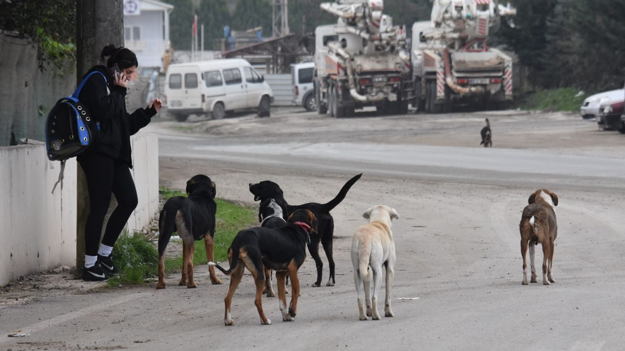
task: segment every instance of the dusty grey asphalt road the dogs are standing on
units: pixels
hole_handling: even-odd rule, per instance
[[[478,146],[484,117],[492,149]],[[183,189],[203,173],[219,197],[247,204],[249,182],[277,182],[291,204],[326,202],[363,172],[332,211],[336,286],[311,287],[308,259],[297,319],[282,322],[269,298],[273,324],[261,326],[247,274],[234,296],[236,325],[225,327],[229,280],[220,275],[224,284],[211,285],[203,265],[198,289],[178,287],[170,275],[165,290],[51,295],[0,309],[2,332],[29,334],[0,335],[0,349],[625,349],[625,137],[616,132],[572,114],[367,112],[336,120],[292,109],[268,119],[160,121],[148,131],[160,136],[161,184]],[[559,197],[556,283],[524,286],[517,225],[527,197],[542,187]],[[376,204],[401,216],[392,227],[395,317],[365,322],[349,247],[362,212]],[[536,258],[540,270],[539,247]]]

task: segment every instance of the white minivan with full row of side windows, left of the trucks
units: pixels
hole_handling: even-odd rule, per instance
[[[191,114],[221,119],[226,111],[258,109],[269,116],[273,92],[264,76],[244,59],[171,64],[165,77],[165,102],[176,121]]]

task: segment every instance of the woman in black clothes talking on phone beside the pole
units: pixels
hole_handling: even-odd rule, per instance
[[[77,158],[87,179],[90,206],[84,227],[83,280],[96,281],[118,272],[111,251],[138,203],[130,174],[133,168],[130,136],[147,126],[162,106],[160,99],[154,99],[146,109],[126,112],[126,88],[137,77],[137,56],[125,47],[109,45],[104,47],[100,58],[106,66],[94,66],[89,72],[101,72],[106,81],[103,75],[94,74],[78,96],[99,129],[97,143]],[[109,217],[100,242],[111,194],[115,195],[118,206]]]

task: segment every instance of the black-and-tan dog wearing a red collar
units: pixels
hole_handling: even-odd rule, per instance
[[[271,324],[262,310],[262,289],[265,284],[263,267],[276,270],[277,295],[280,300],[280,312],[282,320],[295,320],[297,314],[297,297],[299,297],[299,279],[297,270],[306,259],[306,242],[309,235],[317,231],[317,219],[309,210],[296,210],[287,220],[287,224],[269,229],[255,227],[241,230],[228,249],[228,262],[230,269],[225,270],[214,262],[214,265],[226,275],[231,275],[230,287],[224,302],[226,312],[224,315],[225,325],[234,325],[230,315],[232,295],[236,292],[245,267],[252,273],[256,283],[256,299],[254,304],[261,317],[261,324]],[[292,294],[289,309],[286,307],[284,295],[284,278],[291,277]]]

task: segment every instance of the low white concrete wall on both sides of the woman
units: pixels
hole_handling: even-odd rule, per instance
[[[159,206],[158,137],[132,138],[134,182],[139,205],[129,232],[149,225]],[[51,194],[61,169],[46,147],[0,147],[0,286],[21,275],[76,265],[76,160],[66,163],[63,187]]]

